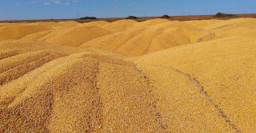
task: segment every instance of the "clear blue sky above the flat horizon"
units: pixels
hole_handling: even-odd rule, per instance
[[[256,13],[256,0],[0,0],[0,20]]]

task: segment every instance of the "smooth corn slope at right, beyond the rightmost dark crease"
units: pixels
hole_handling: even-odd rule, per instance
[[[256,131],[256,40],[227,37],[183,45],[133,59],[137,64],[174,68],[200,81],[206,97],[235,129]],[[205,94],[204,94],[205,95]],[[227,119],[228,118],[228,119]]]

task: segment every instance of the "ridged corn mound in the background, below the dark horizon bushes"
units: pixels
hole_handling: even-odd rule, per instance
[[[177,45],[197,42],[201,37],[209,34],[211,33],[184,22],[157,19],[134,23],[134,27],[129,26],[124,31],[86,41],[80,46],[140,56]]]

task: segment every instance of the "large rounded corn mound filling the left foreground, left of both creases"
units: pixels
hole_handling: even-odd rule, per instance
[[[62,57],[1,86],[0,129],[164,131],[154,89],[132,63],[86,53]]]

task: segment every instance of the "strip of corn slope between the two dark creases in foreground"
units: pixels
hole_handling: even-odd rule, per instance
[[[152,84],[158,89],[156,104],[162,112],[162,120],[170,132],[232,132],[233,127],[222,119],[218,108],[206,96],[202,88],[188,76],[173,68],[142,65]]]

